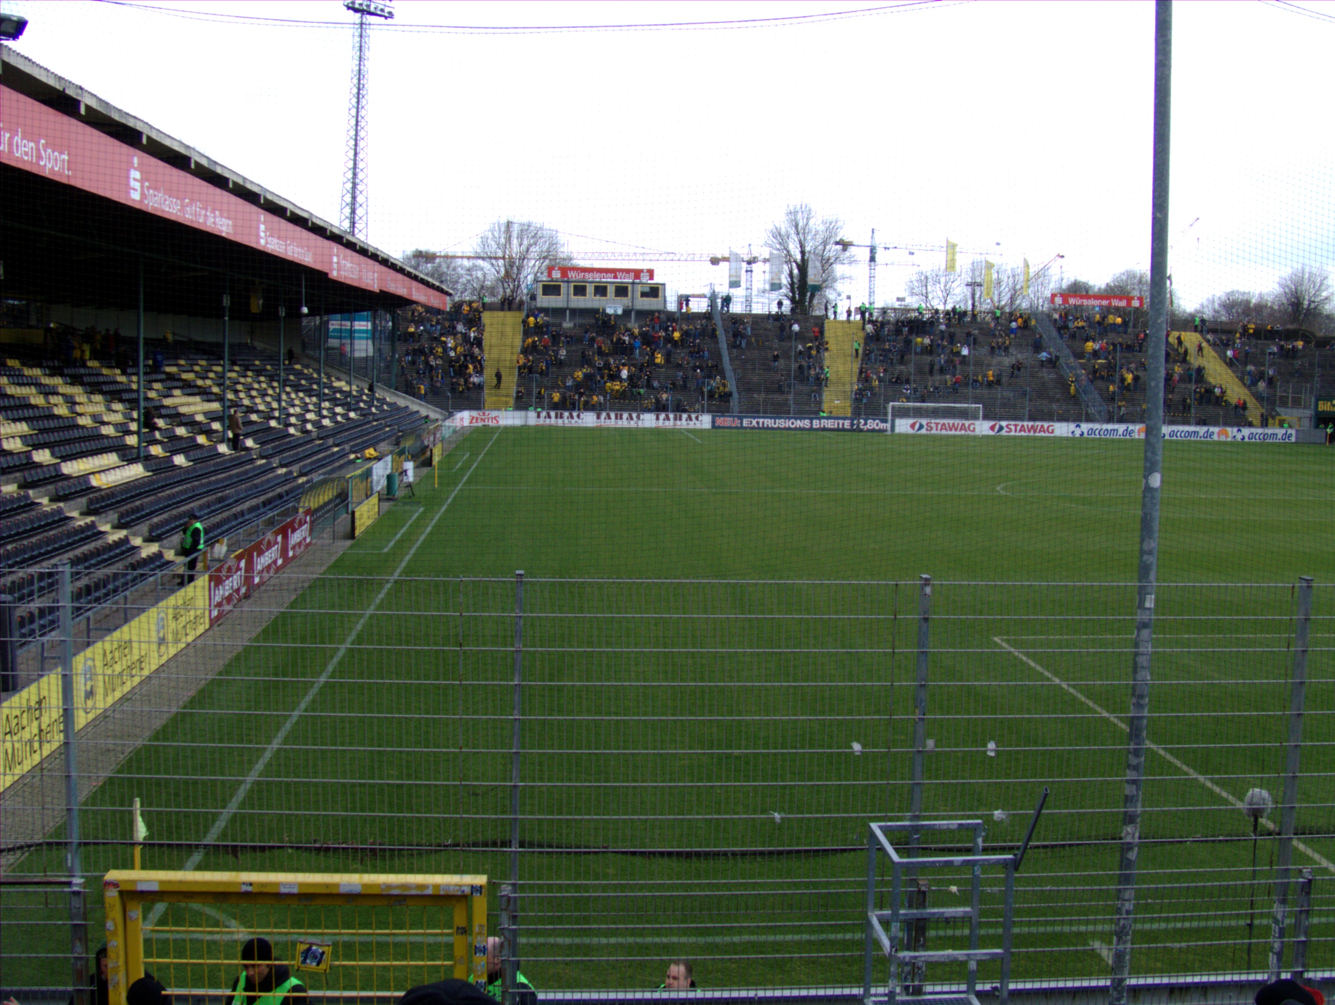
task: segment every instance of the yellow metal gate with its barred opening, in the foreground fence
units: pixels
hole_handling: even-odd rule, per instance
[[[175,994],[228,996],[259,936],[311,996],[398,998],[455,977],[486,988],[487,877],[112,870],[108,1005],[152,973]]]

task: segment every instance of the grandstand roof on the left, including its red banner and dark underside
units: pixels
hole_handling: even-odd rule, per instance
[[[11,133],[0,140],[7,298],[127,307],[138,260],[154,302],[147,310],[171,314],[216,315],[219,291],[254,287],[282,291],[272,299],[292,307],[292,291],[303,290],[312,312],[443,307],[451,295],[11,47],[0,47],[0,125]],[[55,167],[39,163],[47,157],[39,147],[27,159],[12,148],[20,127],[24,140],[45,137]],[[226,227],[212,226],[215,210]]]

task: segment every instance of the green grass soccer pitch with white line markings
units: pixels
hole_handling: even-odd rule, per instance
[[[1282,790],[1299,575],[1294,861],[1335,858],[1332,458],[1165,444],[1136,974],[1244,969],[1254,896],[1264,962],[1274,841],[1254,886],[1234,801]],[[1105,974],[1140,467],[1133,442],[474,430],[88,798],[85,868],[128,865],[96,842],[138,795],[151,868],[507,877],[523,570],[525,973],[654,986],[685,956],[709,986],[857,984],[852,849],[908,811],[925,573],[924,809],[1007,848],[1049,785],[1013,976]],[[1328,952],[1328,904],[1312,934]]]

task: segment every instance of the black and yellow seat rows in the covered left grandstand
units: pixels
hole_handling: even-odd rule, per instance
[[[220,442],[214,348],[150,343],[144,399],[155,428],[140,455],[135,367],[109,358],[60,366],[36,347],[5,346],[0,356],[23,351],[31,355],[0,358],[0,590],[15,599],[23,639],[56,627],[56,563],[71,565],[77,617],[171,569],[191,510],[210,542],[232,535],[422,422],[328,378],[322,415],[315,374],[290,366],[279,424],[278,358],[234,346],[231,407],[246,446],[234,454]]]

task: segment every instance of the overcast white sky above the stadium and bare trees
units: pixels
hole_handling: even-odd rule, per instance
[[[16,44],[31,59],[338,220],[352,55],[338,0],[3,3],[31,19]],[[575,252],[726,254],[758,250],[786,204],[809,202],[864,243],[874,227],[878,243],[949,236],[961,255],[1033,267],[1063,254],[1067,278],[1096,283],[1148,267],[1151,3],[431,28],[870,7],[399,3],[371,48],[368,238],[466,251],[509,216]],[[1335,4],[1176,5],[1172,270],[1188,303],[1335,263],[1332,45]],[[906,263],[939,258],[882,252],[877,299],[902,292]],[[673,287],[726,286],[725,266],[657,267]],[[866,295],[865,266],[845,292]]]

